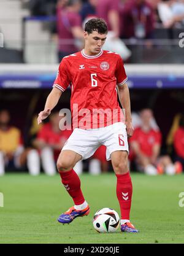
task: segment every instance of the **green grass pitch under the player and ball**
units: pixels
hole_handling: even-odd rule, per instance
[[[6,174],[0,177],[4,208],[0,208],[0,243],[184,243],[184,207],[178,205],[184,192],[184,175],[150,177],[132,174],[134,185],[131,220],[140,233],[99,234],[93,215],[109,207],[120,214],[114,174],[83,174],[82,190],[91,212],[69,225],[57,217],[73,205],[59,175],[37,177]]]

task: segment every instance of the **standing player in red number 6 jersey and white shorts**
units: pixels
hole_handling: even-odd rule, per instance
[[[61,214],[58,221],[70,223],[76,217],[89,214],[90,207],[73,167],[79,160],[91,157],[100,145],[105,145],[106,158],[112,160],[117,176],[121,231],[136,233],[138,230],[129,220],[132,182],[128,169],[127,137],[132,136],[134,131],[129,89],[120,55],[102,50],[106,37],[107,25],[104,20],[95,18],[85,24],[84,49],[61,61],[53,89],[37,120],[39,124],[50,115],[61,94],[70,85],[74,131],[61,150],[57,168],[74,206]],[[125,115],[118,104],[117,91]]]

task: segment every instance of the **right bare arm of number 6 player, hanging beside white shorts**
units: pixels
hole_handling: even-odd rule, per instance
[[[126,83],[118,87],[118,95],[119,95],[121,106],[123,107],[123,109],[125,109],[126,131],[128,136],[131,137],[134,133],[134,128],[132,126],[129,88]]]

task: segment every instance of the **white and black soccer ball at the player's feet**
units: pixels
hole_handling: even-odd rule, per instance
[[[113,233],[120,226],[120,217],[113,209],[103,208],[94,214],[93,226],[99,233]]]

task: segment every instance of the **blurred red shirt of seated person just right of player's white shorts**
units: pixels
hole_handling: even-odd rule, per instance
[[[134,134],[129,138],[129,142],[136,141],[139,144],[140,150],[147,157],[153,154],[153,146],[161,144],[161,133],[151,129],[148,132],[143,131],[140,127],[136,128]]]

